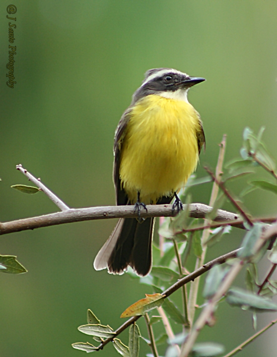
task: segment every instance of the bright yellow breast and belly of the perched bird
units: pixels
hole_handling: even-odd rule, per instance
[[[156,203],[184,187],[198,161],[194,108],[157,95],[139,101],[131,112],[120,150],[119,176],[131,201]]]

